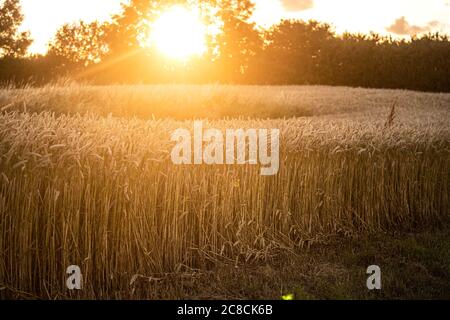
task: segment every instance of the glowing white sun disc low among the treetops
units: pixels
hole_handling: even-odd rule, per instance
[[[206,27],[197,12],[174,6],[151,25],[149,42],[170,58],[201,56],[207,50]]]

